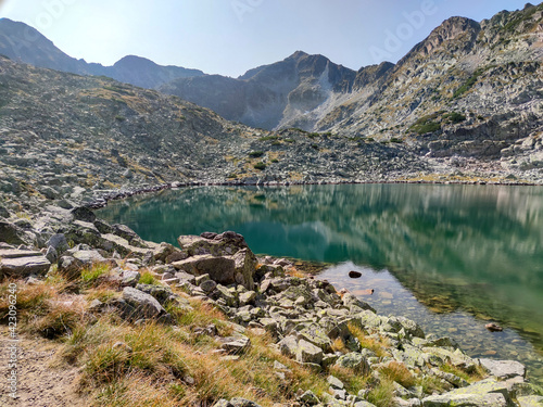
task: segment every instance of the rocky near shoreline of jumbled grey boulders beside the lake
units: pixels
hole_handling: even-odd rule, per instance
[[[114,270],[109,279],[122,296],[94,300],[87,304],[88,313],[117,313],[130,323],[156,320],[173,325],[165,307],[172,301],[189,306],[174,293],[181,290],[213,305],[235,323],[235,333],[228,338],[218,338],[212,326],[202,331],[222,343],[218,357],[230,361],[243,357],[251,346],[245,334],[250,330],[270,334],[283,355],[315,374],[327,374],[330,389],[326,393],[294,390],[299,406],[369,407],[370,390],[397,370],[409,380],[393,381],[393,406],[525,407],[543,403],[541,390],[526,381],[521,364],[471,359],[454,339],[426,335],[403,317],[379,316],[349,292],[301,275],[292,262],[257,258],[235,232],[181,236],[177,249],[146,242],[128,227],[109,225],[84,206],[47,206],[33,224],[24,220],[9,224],[13,226],[10,233],[5,222],[0,225],[4,241],[0,244],[0,278],[39,284],[53,264],[70,279],[80,278],[81,270],[92,264],[108,264]],[[139,283],[143,269],[151,270],[160,283]],[[367,389],[349,393],[340,379],[327,373],[331,367],[367,378]],[[277,376],[289,374],[281,364],[275,370]],[[215,406],[257,405],[233,398]]]

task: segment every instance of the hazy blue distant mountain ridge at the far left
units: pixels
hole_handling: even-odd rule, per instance
[[[125,56],[113,66],[87,63],[66,55],[38,30],[9,18],[0,20],[0,54],[14,61],[79,75],[104,75],[142,88],[156,88],[179,77],[203,72],[178,66],[161,66],[139,56]]]

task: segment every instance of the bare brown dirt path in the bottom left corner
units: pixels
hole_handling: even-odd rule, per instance
[[[0,326],[0,406],[2,407],[85,407],[75,391],[77,369],[51,367],[60,345],[40,338],[21,336],[17,343],[17,398],[10,396],[9,367],[12,342]]]

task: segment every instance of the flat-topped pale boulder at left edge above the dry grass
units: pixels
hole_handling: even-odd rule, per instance
[[[25,278],[30,275],[45,275],[51,263],[41,252],[15,249],[0,250],[0,278]]]

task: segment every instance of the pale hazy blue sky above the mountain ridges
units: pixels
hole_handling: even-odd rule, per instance
[[[477,21],[526,0],[0,0],[87,62],[127,54],[237,77],[296,50],[353,69],[396,62],[444,20]]]

